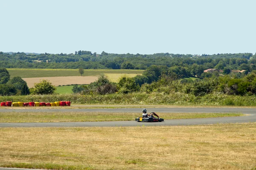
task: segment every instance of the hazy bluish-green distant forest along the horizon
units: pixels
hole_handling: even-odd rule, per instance
[[[23,52],[0,52],[1,68],[65,68],[65,69],[140,69],[146,70],[151,65],[181,66],[202,70],[215,68],[218,70],[256,70],[256,55],[239,54],[101,54],[91,51],[75,51],[75,54],[28,54]],[[197,74],[195,74],[197,75]]]

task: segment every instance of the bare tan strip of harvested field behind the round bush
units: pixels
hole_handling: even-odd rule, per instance
[[[34,78],[23,78],[24,81],[27,82],[29,88],[34,87],[35,83],[40,82],[40,80],[47,79],[54,86],[58,85],[70,85],[70,84],[90,84],[91,82],[95,82],[98,77],[96,76],[67,76],[67,77],[34,77]]]

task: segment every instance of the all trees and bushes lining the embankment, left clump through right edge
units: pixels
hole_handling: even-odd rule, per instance
[[[256,71],[250,74],[245,72],[231,72],[220,74],[218,72],[198,72],[197,64],[191,68],[173,66],[168,68],[162,65],[149,66],[142,75],[136,77],[122,77],[118,83],[113,83],[107,77],[101,76],[90,85],[75,85],[74,93],[82,95],[106,94],[189,94],[204,96],[220,93],[226,95],[252,96],[256,94]],[[195,77],[195,74],[200,76]],[[206,76],[207,75],[207,76]],[[192,78],[191,78],[192,77]],[[28,88],[26,82],[20,77],[10,79],[6,68],[0,69],[0,95],[28,95],[28,94],[54,94],[53,85],[43,80]]]

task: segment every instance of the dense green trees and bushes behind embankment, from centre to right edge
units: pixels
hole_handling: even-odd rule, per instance
[[[256,94],[256,71],[250,74],[231,73],[227,75],[218,72],[209,73],[204,78],[188,78],[193,70],[175,66],[152,65],[136,77],[122,77],[118,83],[109,82],[107,77],[102,76],[90,85],[75,85],[74,93],[81,94],[129,94],[134,92],[151,94],[154,92],[171,94],[182,93],[194,96],[221,93],[227,95],[255,95]]]

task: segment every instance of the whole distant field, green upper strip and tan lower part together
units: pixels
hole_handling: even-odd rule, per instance
[[[100,75],[108,75],[113,82],[124,75],[135,77],[142,74],[143,70],[84,70],[84,74],[79,74],[78,69],[27,69],[27,68],[8,68],[10,77],[21,77],[27,82],[29,88],[42,79],[48,79],[53,85],[71,85],[71,84],[90,84]]]

